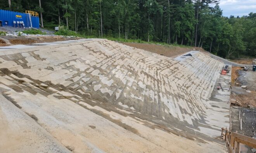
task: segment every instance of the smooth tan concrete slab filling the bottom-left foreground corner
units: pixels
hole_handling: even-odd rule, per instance
[[[3,153],[70,152],[3,95],[0,95],[0,138]]]

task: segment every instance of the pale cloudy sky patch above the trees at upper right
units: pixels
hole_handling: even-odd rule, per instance
[[[220,0],[219,5],[225,17],[230,15],[241,17],[250,12],[256,13],[256,0]]]

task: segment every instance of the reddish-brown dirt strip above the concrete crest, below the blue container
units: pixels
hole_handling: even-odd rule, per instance
[[[67,41],[67,40],[75,40],[75,39],[80,39],[80,38],[79,37],[70,38],[70,37],[62,37],[62,36],[35,36],[35,37],[1,36],[0,46]]]

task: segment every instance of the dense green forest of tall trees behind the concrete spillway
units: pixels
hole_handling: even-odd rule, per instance
[[[0,9],[39,13],[47,29],[204,48],[232,59],[256,56],[256,13],[223,17],[218,0],[0,0]],[[42,19],[41,19],[42,17]]]

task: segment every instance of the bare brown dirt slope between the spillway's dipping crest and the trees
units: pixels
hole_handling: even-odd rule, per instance
[[[142,44],[142,43],[130,43],[130,42],[122,42],[122,43],[131,47],[144,49],[146,51],[150,51],[156,54],[161,54],[167,57],[175,57],[191,50],[204,51],[204,49],[198,48],[198,47],[179,47],[179,46],[166,46],[166,45],[160,45],[160,44]]]

